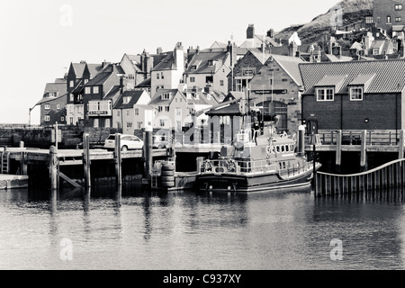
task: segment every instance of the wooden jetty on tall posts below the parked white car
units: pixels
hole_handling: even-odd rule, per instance
[[[89,136],[84,135],[83,149],[58,149],[51,146],[48,149],[39,148],[4,148],[0,151],[1,175],[0,189],[3,186],[11,187],[12,183],[26,181],[32,187],[49,187],[51,190],[58,190],[60,183],[65,181],[74,187],[90,188],[92,185],[91,171],[103,169],[107,166],[115,166],[116,184],[121,185],[122,163],[126,160],[132,161],[130,166],[139,166],[139,175],[148,177],[145,174],[145,162],[151,162],[154,158],[166,158],[168,150],[152,149],[151,145],[145,145],[144,150],[121,151],[120,141],[116,141],[114,151],[102,148],[89,148]],[[116,137],[120,139],[120,137]],[[146,152],[147,150],[148,152]],[[77,176],[68,175],[65,170],[74,171]],[[108,169],[107,169],[108,170]],[[7,182],[8,180],[8,182]],[[14,180],[14,182],[11,182]],[[25,185],[26,186],[26,185]]]

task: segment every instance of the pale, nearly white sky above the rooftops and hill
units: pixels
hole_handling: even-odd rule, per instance
[[[45,85],[71,62],[120,62],[124,53],[210,48],[214,41],[309,23],[338,0],[13,0],[0,4],[0,124],[29,122]],[[40,107],[31,124],[40,123]]]

